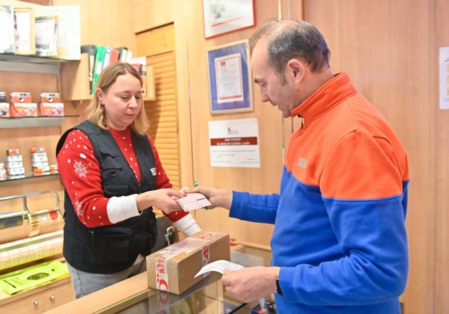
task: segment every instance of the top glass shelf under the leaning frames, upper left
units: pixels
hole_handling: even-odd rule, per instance
[[[71,60],[0,53],[0,71],[58,74],[61,63]]]

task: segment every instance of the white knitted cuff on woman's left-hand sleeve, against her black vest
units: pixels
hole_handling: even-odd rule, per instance
[[[109,221],[117,224],[117,222],[122,222],[125,219],[140,215],[139,210],[137,210],[137,204],[135,203],[136,197],[137,194],[111,197],[106,206]]]

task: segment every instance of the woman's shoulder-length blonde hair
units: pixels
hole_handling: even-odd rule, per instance
[[[137,77],[140,81],[140,86],[142,86],[142,77],[140,77],[139,72],[137,72],[137,70],[135,70],[135,68],[133,68],[130,64],[117,61],[104,68],[98,77],[97,88],[101,88],[104,93],[108,92],[108,89],[115,83],[117,77],[119,75],[126,75],[126,73],[133,75],[133,77]],[[87,119],[89,121],[104,130],[108,128],[106,125],[106,113],[104,111],[104,106],[99,103],[97,92],[93,95],[93,99],[90,101],[86,111],[88,113]],[[131,130],[139,135],[144,135],[148,129],[148,126],[144,104],[142,103],[140,112],[131,124]]]

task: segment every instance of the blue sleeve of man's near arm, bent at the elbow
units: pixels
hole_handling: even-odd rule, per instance
[[[361,305],[401,295],[408,275],[403,196],[323,201],[344,257],[281,268],[279,282],[287,300]]]

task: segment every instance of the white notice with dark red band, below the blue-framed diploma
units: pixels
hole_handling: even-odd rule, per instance
[[[212,167],[260,168],[256,118],[209,121]]]

